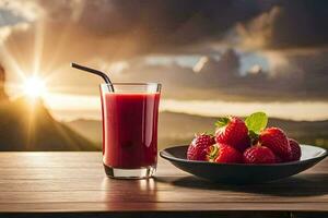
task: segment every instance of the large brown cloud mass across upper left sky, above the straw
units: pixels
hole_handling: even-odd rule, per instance
[[[2,57],[15,59],[28,72],[39,53],[43,72],[59,72],[52,83],[62,83],[60,77],[66,76],[67,85],[81,81],[79,73],[67,73],[71,61],[110,63],[152,53],[208,53],[236,22],[270,7],[243,0],[24,0],[0,5],[30,24],[11,27]]]

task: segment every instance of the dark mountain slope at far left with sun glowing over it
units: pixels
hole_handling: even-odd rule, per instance
[[[0,104],[0,150],[95,150],[95,144],[56,121],[40,100]]]

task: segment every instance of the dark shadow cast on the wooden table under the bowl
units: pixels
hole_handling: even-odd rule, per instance
[[[274,196],[316,196],[328,193],[328,174],[304,174],[295,175],[284,180],[261,184],[220,184],[202,180],[196,177],[184,177],[168,179],[157,177],[156,182],[171,183],[176,186],[201,189],[201,190],[230,190],[244,193],[260,193]]]

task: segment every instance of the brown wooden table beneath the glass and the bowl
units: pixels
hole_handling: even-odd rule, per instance
[[[112,180],[101,156],[0,153],[1,216],[328,217],[328,159],[286,180],[233,186],[194,178],[161,158],[154,179]]]

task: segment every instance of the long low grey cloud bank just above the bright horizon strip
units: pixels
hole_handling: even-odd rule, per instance
[[[161,82],[164,96],[184,99],[308,100],[327,99],[327,52],[289,55],[286,64],[266,72],[261,69],[241,75],[241,59],[234,49],[220,59],[203,57],[197,72],[172,63],[130,63],[115,80]]]

